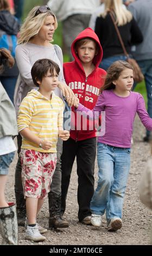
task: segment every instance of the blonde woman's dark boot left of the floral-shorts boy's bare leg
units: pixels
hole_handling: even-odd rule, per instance
[[[26,221],[26,199],[24,199],[24,194],[22,192],[16,192],[16,213],[17,213],[17,223],[18,226],[25,226]]]

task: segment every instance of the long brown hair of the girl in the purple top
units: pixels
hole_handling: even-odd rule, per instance
[[[100,93],[102,93],[103,90],[115,89],[116,86],[113,84],[113,81],[117,80],[121,75],[121,72],[125,69],[134,70],[133,67],[124,60],[117,60],[116,62],[113,62],[109,69],[107,69],[105,83],[104,86],[100,88]]]

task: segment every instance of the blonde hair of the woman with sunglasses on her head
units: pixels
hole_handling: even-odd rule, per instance
[[[34,7],[28,14],[26,20],[24,21],[19,35],[18,35],[18,44],[27,44],[27,42],[37,35],[43,26],[45,19],[47,16],[51,15],[54,17],[54,28],[58,27],[58,22],[56,20],[56,16],[51,10],[47,10],[45,13],[40,13],[35,16],[36,11],[40,8],[40,6]]]

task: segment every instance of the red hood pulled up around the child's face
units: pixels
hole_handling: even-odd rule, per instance
[[[78,55],[75,53],[75,50],[74,50],[74,45],[75,45],[75,42],[77,42],[78,40],[80,39],[83,39],[83,38],[90,38],[90,39],[93,39],[94,41],[97,42],[97,44],[99,45],[99,52],[96,56],[94,56],[93,58],[93,64],[94,66],[96,66],[96,68],[98,67],[99,63],[101,62],[102,58],[103,58],[103,48],[102,46],[100,45],[100,41],[99,41],[99,38],[98,36],[96,35],[96,33],[93,31],[92,28],[86,28],[84,29],[80,34],[77,35],[77,37],[74,39],[72,45],[71,45],[71,52],[72,52],[72,55],[75,59],[75,62],[77,62],[77,64],[80,66],[81,69],[83,69],[83,66],[81,64],[81,61],[80,59],[78,58]],[[83,69],[84,70],[84,69]]]

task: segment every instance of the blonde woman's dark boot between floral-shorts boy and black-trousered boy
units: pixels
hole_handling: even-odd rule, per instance
[[[49,228],[67,228],[68,222],[61,217],[61,194],[48,193]]]

